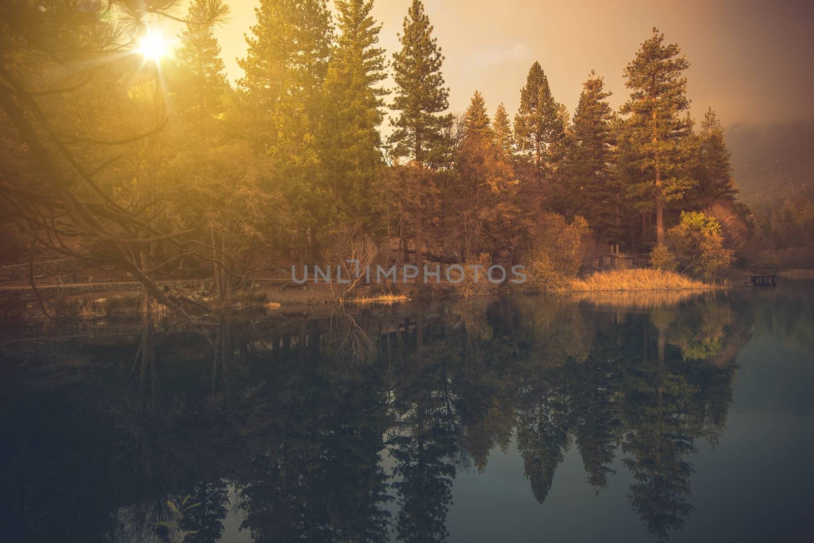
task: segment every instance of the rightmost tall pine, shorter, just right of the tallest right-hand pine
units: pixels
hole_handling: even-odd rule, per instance
[[[705,208],[713,202],[733,203],[737,196],[732,176],[732,156],[724,141],[724,128],[710,108],[704,115],[698,135],[698,206]]]

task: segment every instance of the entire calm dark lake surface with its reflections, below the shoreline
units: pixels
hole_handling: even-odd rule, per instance
[[[5,322],[0,538],[811,541],[812,282],[319,309]]]

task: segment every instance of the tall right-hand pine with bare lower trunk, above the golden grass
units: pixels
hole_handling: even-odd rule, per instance
[[[641,168],[650,172],[640,192],[651,198],[656,211],[656,233],[659,245],[664,243],[664,206],[684,197],[693,182],[686,179],[681,165],[687,154],[686,136],[692,128],[685,96],[687,79],[682,76],[689,62],[679,57],[676,44],[664,44],[664,35],[653,28],[653,37],[641,44],[624,70],[630,100],[622,108],[631,115],[630,126],[641,151]]]

